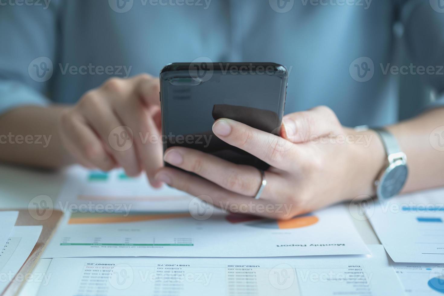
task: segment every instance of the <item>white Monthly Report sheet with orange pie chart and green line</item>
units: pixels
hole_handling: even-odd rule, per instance
[[[193,212],[134,213],[119,219],[146,221],[107,223],[113,215],[73,213],[59,226],[42,257],[368,254],[343,205],[286,222],[257,217],[242,221],[216,209],[207,220],[194,217]]]

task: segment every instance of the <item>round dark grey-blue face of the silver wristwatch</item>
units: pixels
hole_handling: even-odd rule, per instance
[[[398,194],[407,180],[408,169],[404,161],[392,163],[382,175],[378,186],[378,196],[389,198]]]

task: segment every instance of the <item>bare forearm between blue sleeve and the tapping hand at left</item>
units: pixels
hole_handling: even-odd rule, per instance
[[[67,108],[24,106],[0,115],[0,162],[48,169],[72,163],[58,132]]]

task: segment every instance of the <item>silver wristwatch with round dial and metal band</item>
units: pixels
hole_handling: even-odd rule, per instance
[[[381,171],[375,181],[378,198],[387,199],[400,193],[407,180],[407,156],[401,151],[393,134],[384,128],[372,128],[379,138],[387,154],[388,166]]]

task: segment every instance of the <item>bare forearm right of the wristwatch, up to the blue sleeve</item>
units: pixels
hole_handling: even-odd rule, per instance
[[[388,130],[407,155],[409,172],[402,192],[444,186],[444,108],[389,126]]]

